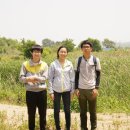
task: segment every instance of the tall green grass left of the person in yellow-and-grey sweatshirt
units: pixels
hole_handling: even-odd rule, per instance
[[[21,61],[0,62],[0,100],[9,103],[25,102],[25,89],[19,82]]]

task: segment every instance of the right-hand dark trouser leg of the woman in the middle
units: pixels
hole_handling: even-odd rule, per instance
[[[66,129],[70,130],[71,116],[70,116],[70,92],[62,93],[62,99],[65,111]]]

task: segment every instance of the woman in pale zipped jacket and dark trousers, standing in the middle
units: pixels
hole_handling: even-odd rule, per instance
[[[59,118],[61,97],[64,105],[66,130],[70,130],[71,125],[70,100],[71,93],[74,92],[74,70],[72,63],[66,59],[67,54],[66,47],[59,47],[57,59],[51,63],[49,68],[49,92],[54,103],[56,130],[61,130]]]

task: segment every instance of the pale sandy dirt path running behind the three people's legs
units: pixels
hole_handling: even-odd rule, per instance
[[[20,124],[21,121],[27,121],[27,108],[15,105],[0,104],[0,112],[6,112],[9,123]],[[53,115],[53,110],[47,110],[47,119]],[[79,130],[80,119],[79,113],[72,113],[72,128],[77,125]],[[97,114],[98,129],[97,130],[130,130],[130,114],[113,113],[113,114]],[[52,116],[51,116],[52,118]],[[52,118],[53,119],[53,118]],[[64,122],[64,113],[61,112],[61,119]],[[89,113],[88,113],[89,120]],[[90,122],[88,122],[88,125]],[[89,125],[90,128],[90,125]]]

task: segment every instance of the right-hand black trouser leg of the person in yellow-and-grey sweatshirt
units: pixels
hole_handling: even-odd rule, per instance
[[[38,100],[38,112],[39,112],[39,120],[40,120],[40,130],[45,130],[46,128],[46,109],[47,109],[47,91],[41,91],[37,93]]]

